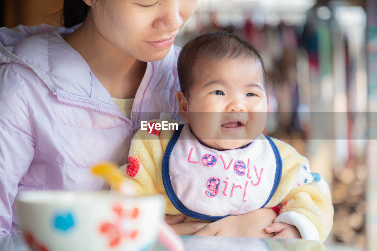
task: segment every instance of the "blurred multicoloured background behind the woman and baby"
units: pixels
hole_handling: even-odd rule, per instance
[[[0,26],[60,25],[62,0],[0,0]],[[265,133],[328,181],[329,250],[377,250],[377,1],[199,0],[175,44],[233,30],[270,78]]]

